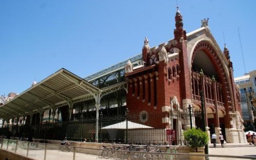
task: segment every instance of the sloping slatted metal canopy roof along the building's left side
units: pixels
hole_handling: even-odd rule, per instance
[[[59,107],[77,97],[94,98],[102,90],[62,68],[0,106],[0,118],[13,118]]]

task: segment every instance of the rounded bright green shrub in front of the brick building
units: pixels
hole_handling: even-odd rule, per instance
[[[200,129],[189,129],[184,132],[184,138],[187,146],[190,146],[198,152],[199,147],[208,143],[208,134]]]

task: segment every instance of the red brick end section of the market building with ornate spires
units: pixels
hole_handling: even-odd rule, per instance
[[[222,132],[226,130],[227,136],[231,134],[228,128],[243,129],[243,126],[238,125],[239,120],[235,118],[242,114],[239,92],[234,84],[232,62],[227,48],[224,48],[223,54],[217,49],[218,46],[201,39],[200,42],[194,44],[192,52],[188,52],[191,50],[188,48],[190,42],[183,29],[182,15],[179,11],[176,12],[175,22],[174,40],[170,40],[168,44],[160,44],[158,48],[150,49],[146,38],[142,49],[144,65],[126,73],[126,79],[129,80],[126,105],[130,112],[166,112],[166,117],[168,117],[168,112],[170,112],[168,108],[170,109],[172,98],[178,100],[180,108],[188,108],[188,105],[193,106],[194,109],[201,108],[199,92],[203,89],[207,112],[206,125],[214,126],[211,132],[216,132],[216,128],[221,128]],[[167,52],[168,62],[160,60],[162,49]],[[202,77],[192,70],[198,51],[208,56],[218,74],[218,81],[214,77],[206,75]],[[159,119],[159,123],[164,122]]]

